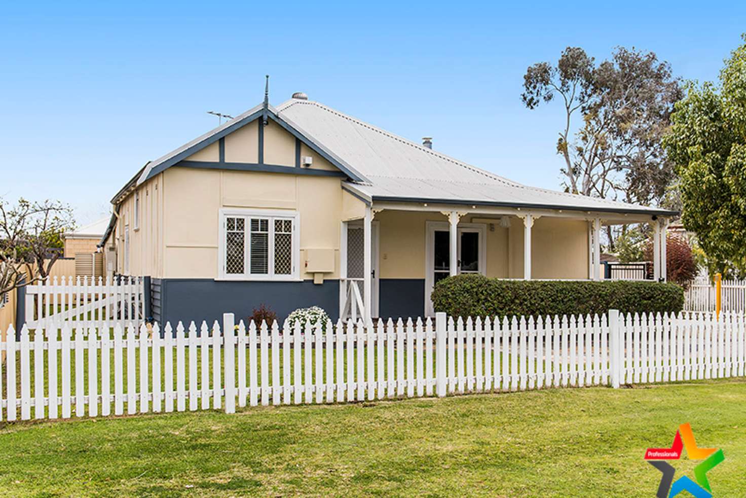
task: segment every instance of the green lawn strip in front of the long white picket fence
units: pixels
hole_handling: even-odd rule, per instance
[[[727,380],[11,423],[0,494],[653,497],[643,452],[689,422],[724,450],[714,496],[743,496],[745,413]]]

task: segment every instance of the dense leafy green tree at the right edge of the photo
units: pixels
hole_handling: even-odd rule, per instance
[[[680,175],[683,225],[697,234],[710,270],[744,272],[746,44],[725,60],[719,80],[689,84],[663,143]]]

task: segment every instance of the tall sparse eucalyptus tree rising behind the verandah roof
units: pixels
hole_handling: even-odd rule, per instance
[[[653,52],[618,47],[596,63],[568,47],[556,64],[527,69],[521,99],[529,109],[562,103],[556,146],[566,191],[648,204],[674,179],[661,137],[681,96],[671,66]]]

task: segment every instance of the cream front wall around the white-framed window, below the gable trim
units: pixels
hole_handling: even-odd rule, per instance
[[[301,278],[305,249],[332,249],[339,278],[340,180],[329,176],[172,167],[166,184],[166,278],[217,278],[221,208],[287,209],[301,218]]]

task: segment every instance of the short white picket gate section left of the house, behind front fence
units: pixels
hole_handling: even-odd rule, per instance
[[[47,278],[25,289],[25,323],[47,329],[53,323],[72,327],[140,326],[145,319],[142,277]]]

